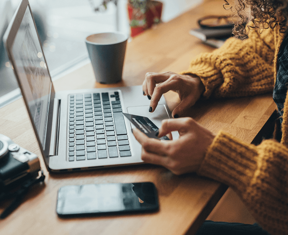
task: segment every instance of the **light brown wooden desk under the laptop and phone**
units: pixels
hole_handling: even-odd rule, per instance
[[[193,56],[211,51],[212,48],[190,36],[188,31],[196,27],[201,16],[227,13],[222,4],[219,0],[204,1],[178,18],[132,39],[128,43],[123,81],[115,86],[140,85],[146,72],[180,72],[189,66]],[[54,86],[56,91],[105,87],[95,83],[90,64],[56,80]],[[170,108],[178,102],[173,92],[166,98]],[[223,129],[251,142],[274,109],[271,95],[261,95],[201,101],[187,114],[215,133]],[[22,99],[0,110],[0,132],[41,155]],[[17,210],[0,221],[0,234],[193,234],[226,190],[218,182],[193,174],[176,176],[151,165],[59,175],[44,170],[45,185],[35,186]],[[60,219],[56,215],[57,190],[63,185],[139,181],[155,183],[159,212],[76,219]],[[1,205],[0,211],[3,208]]]

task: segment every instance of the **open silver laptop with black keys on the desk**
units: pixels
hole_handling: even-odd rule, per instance
[[[122,112],[158,127],[172,118],[164,97],[149,113],[142,86],[55,92],[28,0],[19,4],[3,41],[50,172],[142,164],[141,145]]]

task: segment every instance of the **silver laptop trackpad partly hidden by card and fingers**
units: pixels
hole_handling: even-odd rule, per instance
[[[161,127],[163,119],[171,118],[164,104],[158,105],[153,113],[149,112],[149,106],[134,106],[128,107],[127,112],[138,116],[148,117],[158,128]],[[172,132],[173,140],[179,138],[178,131]]]

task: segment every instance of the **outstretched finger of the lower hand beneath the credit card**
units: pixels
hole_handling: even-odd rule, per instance
[[[149,138],[143,132],[135,128],[133,129],[133,134],[146,152],[155,153],[161,156],[167,155],[167,147],[165,142],[161,142],[160,140],[154,138]]]

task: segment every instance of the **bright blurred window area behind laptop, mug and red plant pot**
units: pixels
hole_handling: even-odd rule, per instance
[[[88,35],[116,30],[130,34],[127,1],[118,0],[117,7],[110,1],[106,9],[102,6],[98,11],[94,8],[101,6],[103,0],[29,1],[52,80],[90,62],[84,43]],[[167,22],[202,0],[160,1],[161,19]],[[20,0],[0,0],[0,108],[21,97],[2,42],[19,3]]]

